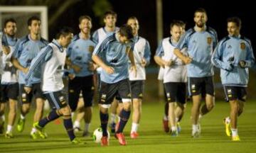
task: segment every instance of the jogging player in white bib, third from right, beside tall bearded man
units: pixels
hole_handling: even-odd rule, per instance
[[[169,121],[171,135],[178,136],[176,122],[176,103],[183,106],[186,103],[186,66],[174,55],[174,48],[181,38],[182,26],[179,21],[174,21],[170,26],[171,37],[164,38],[156,51],[154,59],[159,66],[164,67],[164,88],[167,102],[169,103]],[[185,54],[185,49],[181,50]]]

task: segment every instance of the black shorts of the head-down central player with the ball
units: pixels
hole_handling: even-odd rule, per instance
[[[132,95],[129,79],[124,79],[114,84],[107,84],[101,81],[100,84],[100,104],[111,104],[115,96],[119,96],[121,99],[126,98],[131,100]]]

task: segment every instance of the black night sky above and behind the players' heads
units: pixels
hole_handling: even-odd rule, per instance
[[[129,1],[117,1],[109,0],[113,6],[113,10],[117,12],[117,26],[121,26],[126,23],[129,16],[137,16],[139,19],[140,30],[139,35],[149,40],[151,45],[151,52],[154,52],[157,47],[156,41],[156,2],[155,0],[129,0]],[[68,8],[63,16],[60,16],[61,24],[65,26],[71,26],[78,32],[78,17],[83,14],[90,15],[92,17],[93,28],[97,30],[100,28],[99,19],[95,18],[90,4],[93,1],[80,1],[75,6]],[[187,27],[194,26],[193,13],[196,8],[205,8],[208,13],[207,25],[214,28],[218,33],[218,39],[221,40],[227,35],[227,23],[228,17],[238,16],[242,19],[241,34],[252,40],[252,46],[255,46],[255,22],[256,6],[252,4],[251,0],[225,1],[224,0],[193,0],[193,1],[170,1],[163,0],[163,18],[164,18],[164,37],[169,36],[169,24],[172,20],[182,20],[187,23]],[[78,11],[80,10],[80,11]],[[63,21],[62,18],[65,18]],[[67,20],[68,18],[68,20]],[[54,29],[50,29],[50,32]],[[53,37],[53,33],[50,33],[50,37]],[[254,50],[255,47],[254,47]]]

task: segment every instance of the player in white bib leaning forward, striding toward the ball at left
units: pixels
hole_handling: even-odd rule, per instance
[[[31,63],[28,74],[26,76],[26,86],[24,90],[27,93],[32,91],[31,84],[33,76],[36,73],[41,74],[42,91],[44,96],[52,107],[52,111],[45,118],[33,124],[33,127],[38,130],[39,135],[45,136],[43,128],[60,116],[63,116],[65,130],[68,132],[70,141],[73,144],[78,144],[80,141],[75,138],[73,132],[73,123],[71,119],[71,109],[65,100],[63,94],[63,70],[65,65],[66,52],[64,47],[68,47],[73,38],[73,33],[70,28],[61,28],[55,35],[55,39],[44,47]],[[36,69],[41,69],[41,72],[36,72]]]

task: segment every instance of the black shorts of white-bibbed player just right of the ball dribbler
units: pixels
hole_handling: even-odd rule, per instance
[[[130,81],[132,98],[143,98],[144,80]]]

